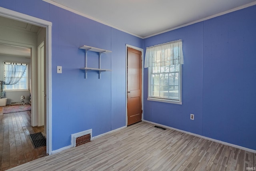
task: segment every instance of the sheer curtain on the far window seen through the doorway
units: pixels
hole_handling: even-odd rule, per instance
[[[27,64],[17,64],[4,62],[4,82],[5,85],[16,84],[22,78],[27,69]]]

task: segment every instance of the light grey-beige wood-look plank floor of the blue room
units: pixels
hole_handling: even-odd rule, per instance
[[[246,171],[256,153],[140,122],[12,171]]]

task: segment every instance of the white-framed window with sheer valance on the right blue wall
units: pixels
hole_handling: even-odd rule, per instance
[[[148,100],[182,104],[182,40],[146,49]]]

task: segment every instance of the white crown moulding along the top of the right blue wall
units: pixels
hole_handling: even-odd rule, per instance
[[[209,19],[211,19],[211,18],[215,18],[215,17],[218,17],[218,16],[222,16],[222,15],[228,14],[228,13],[230,13],[230,12],[242,10],[242,9],[244,9],[244,8],[247,8],[247,7],[249,7],[249,6],[254,6],[254,5],[256,5],[256,2],[250,2],[250,3],[248,3],[248,4],[239,6],[239,7],[237,7],[237,8],[233,8],[233,9],[231,9],[231,10],[227,10],[227,11],[224,11],[224,12],[220,12],[220,13],[218,13],[218,14],[215,14],[215,15],[212,15],[212,16],[209,16],[209,17],[206,17],[206,18],[202,18],[202,19],[200,19],[200,20],[196,20],[196,21],[193,21],[193,22],[189,22],[189,23],[186,23],[186,24],[182,24],[182,25],[177,26],[177,27],[170,28],[170,29],[168,29],[168,30],[164,30],[164,31],[162,31],[162,32],[158,32],[158,33],[155,33],[155,34],[151,34],[151,35],[148,35],[148,36],[144,36],[143,39],[150,38],[150,37],[152,37],[152,36],[156,36],[156,35],[158,35],[158,34],[162,34],[162,33],[165,33],[165,32],[169,32],[169,31],[172,31],[172,30],[176,30],[176,29],[178,29],[178,28],[182,28],[182,27],[185,27],[185,26],[189,26],[189,25],[192,25],[192,24],[195,24],[195,23],[198,23],[198,22],[202,22],[202,21],[205,21],[205,20],[209,20]]]

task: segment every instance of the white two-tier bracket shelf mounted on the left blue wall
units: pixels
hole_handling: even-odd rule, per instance
[[[80,68],[80,70],[85,70],[85,78],[87,78],[87,71],[91,70],[91,71],[98,71],[99,72],[99,79],[100,79],[100,73],[101,72],[105,72],[105,71],[112,71],[112,70],[108,70],[108,69],[102,69],[100,68],[100,57],[101,54],[107,54],[107,53],[111,53],[111,51],[109,50],[104,50],[104,49],[99,49],[99,48],[94,48],[91,46],[81,46],[79,49],[84,49],[85,50],[85,68]],[[98,52],[99,53],[99,68],[88,68],[87,67],[87,51],[93,51],[93,52]]]

